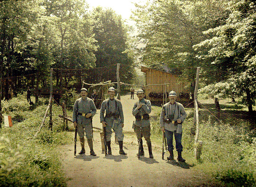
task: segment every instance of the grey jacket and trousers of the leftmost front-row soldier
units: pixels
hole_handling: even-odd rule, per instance
[[[85,116],[82,115],[77,115],[77,113],[80,114],[87,114],[91,113],[91,117],[93,117],[96,114],[96,107],[94,105],[94,102],[90,98],[79,98],[76,99],[75,104],[74,104],[74,109],[73,109],[73,118],[72,121],[73,123],[76,121],[78,126],[78,135],[80,138],[84,137],[84,132],[86,133],[86,138],[92,138],[92,128],[91,128],[91,119],[86,118]]]

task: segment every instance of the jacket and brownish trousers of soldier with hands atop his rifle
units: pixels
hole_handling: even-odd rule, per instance
[[[142,99],[139,101],[140,103],[144,103],[139,110],[137,109],[138,102],[134,103],[133,108],[132,108],[132,115],[136,116],[137,114],[139,115],[144,115],[144,114],[150,114],[151,112],[151,102],[150,100],[147,99]],[[134,125],[134,132],[137,135],[137,138],[142,138],[142,136],[145,138],[147,142],[150,141],[150,119],[142,119],[141,121],[135,121],[133,122]],[[142,131],[140,132],[140,127],[142,127]]]

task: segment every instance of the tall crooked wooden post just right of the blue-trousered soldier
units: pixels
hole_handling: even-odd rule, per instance
[[[199,137],[199,115],[198,115],[198,101],[197,101],[197,89],[198,89],[198,81],[199,81],[199,70],[200,67],[196,69],[196,85],[195,85],[195,92],[194,92],[194,104],[195,104],[195,117],[196,117],[196,136],[194,142],[194,154],[195,158],[198,160],[200,159],[201,149],[202,149],[202,141],[198,141]]]

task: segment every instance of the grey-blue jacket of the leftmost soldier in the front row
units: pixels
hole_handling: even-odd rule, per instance
[[[79,124],[85,124],[89,125],[91,124],[90,118],[86,119],[85,116],[82,115],[77,115],[77,113],[81,114],[87,114],[91,113],[91,117],[93,117],[96,114],[96,107],[92,99],[86,97],[85,99],[79,98],[76,99],[75,104],[74,104],[74,109],[73,109],[73,118],[72,121],[73,123],[76,121],[77,118],[77,123]]]

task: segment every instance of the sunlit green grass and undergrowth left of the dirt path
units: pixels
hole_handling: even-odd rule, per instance
[[[40,99],[39,105],[31,107],[25,95],[2,101],[3,114],[22,118],[22,122],[13,121],[13,127],[0,129],[0,186],[67,186],[56,148],[71,142],[71,135],[57,130],[60,123],[53,126],[53,131],[43,127],[37,138],[33,138],[47,107],[44,103],[45,99]],[[53,112],[62,111],[53,107]]]

